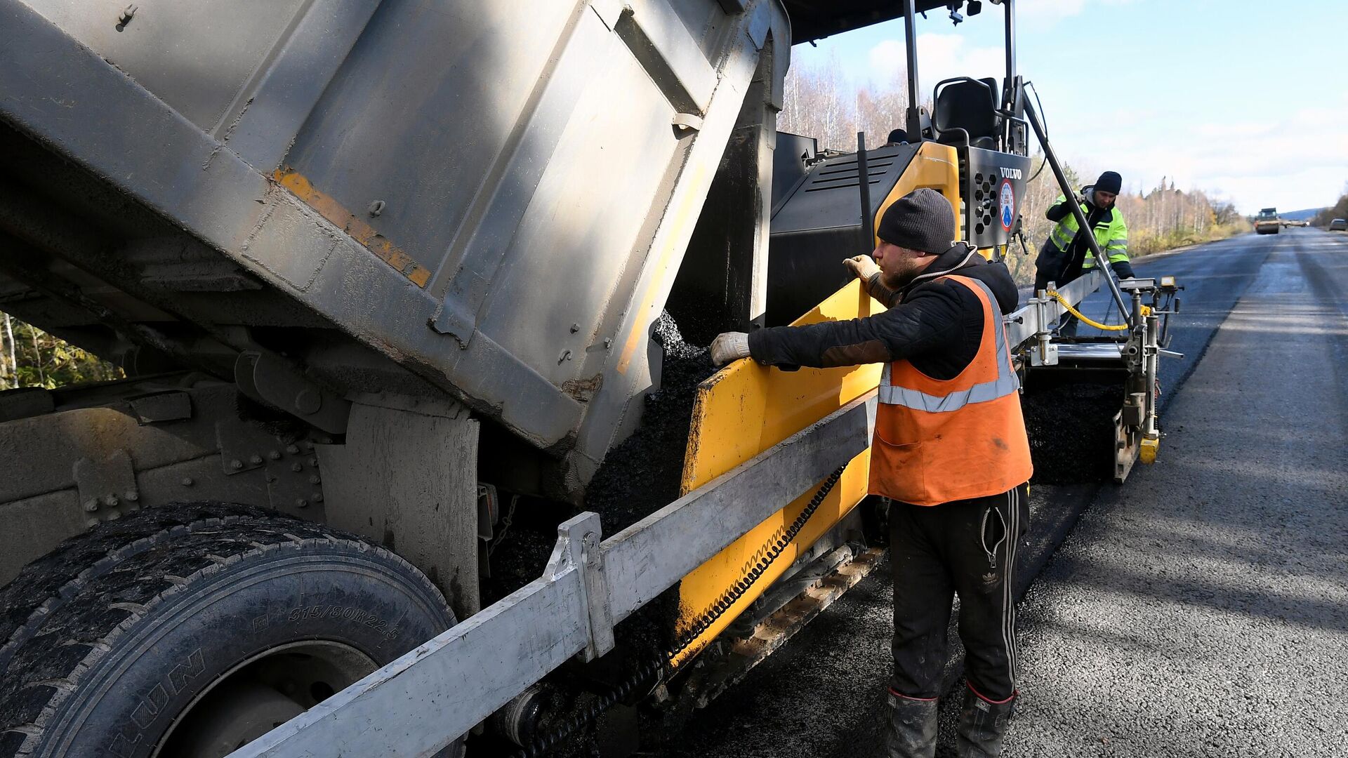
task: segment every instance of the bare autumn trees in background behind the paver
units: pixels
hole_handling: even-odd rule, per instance
[[[865,134],[868,147],[884,144],[891,129],[903,127],[906,108],[905,80],[856,86],[834,59],[813,69],[791,67],[778,128],[813,136],[821,148],[852,152],[857,146],[857,132]],[[930,113],[930,100],[925,109]],[[1101,155],[1100,161],[1107,162],[1108,155]],[[1069,183],[1078,190],[1095,181],[1100,170],[1064,166]],[[1014,241],[1007,256],[1007,266],[1020,283],[1034,281],[1035,254],[1053,228],[1043,213],[1061,194],[1053,171],[1043,166],[1042,154],[1034,155],[1030,177],[1020,208],[1024,247]],[[1202,190],[1181,190],[1174,179],[1167,183],[1162,178],[1154,187],[1132,192],[1127,189],[1127,177],[1124,179],[1126,190],[1119,196],[1117,208],[1128,224],[1128,248],[1134,258],[1250,231],[1248,221],[1233,204],[1208,197]]]

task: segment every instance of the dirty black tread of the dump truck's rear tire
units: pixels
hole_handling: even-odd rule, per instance
[[[251,506],[147,508],[61,544],[0,589],[0,757],[28,755],[81,677],[171,596],[249,557],[315,545],[355,548],[439,591],[369,540]]]

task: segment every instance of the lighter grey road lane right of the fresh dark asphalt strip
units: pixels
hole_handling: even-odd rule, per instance
[[[1279,235],[1023,604],[1011,755],[1348,750],[1348,239]],[[1082,728],[1085,727],[1085,728]]]

